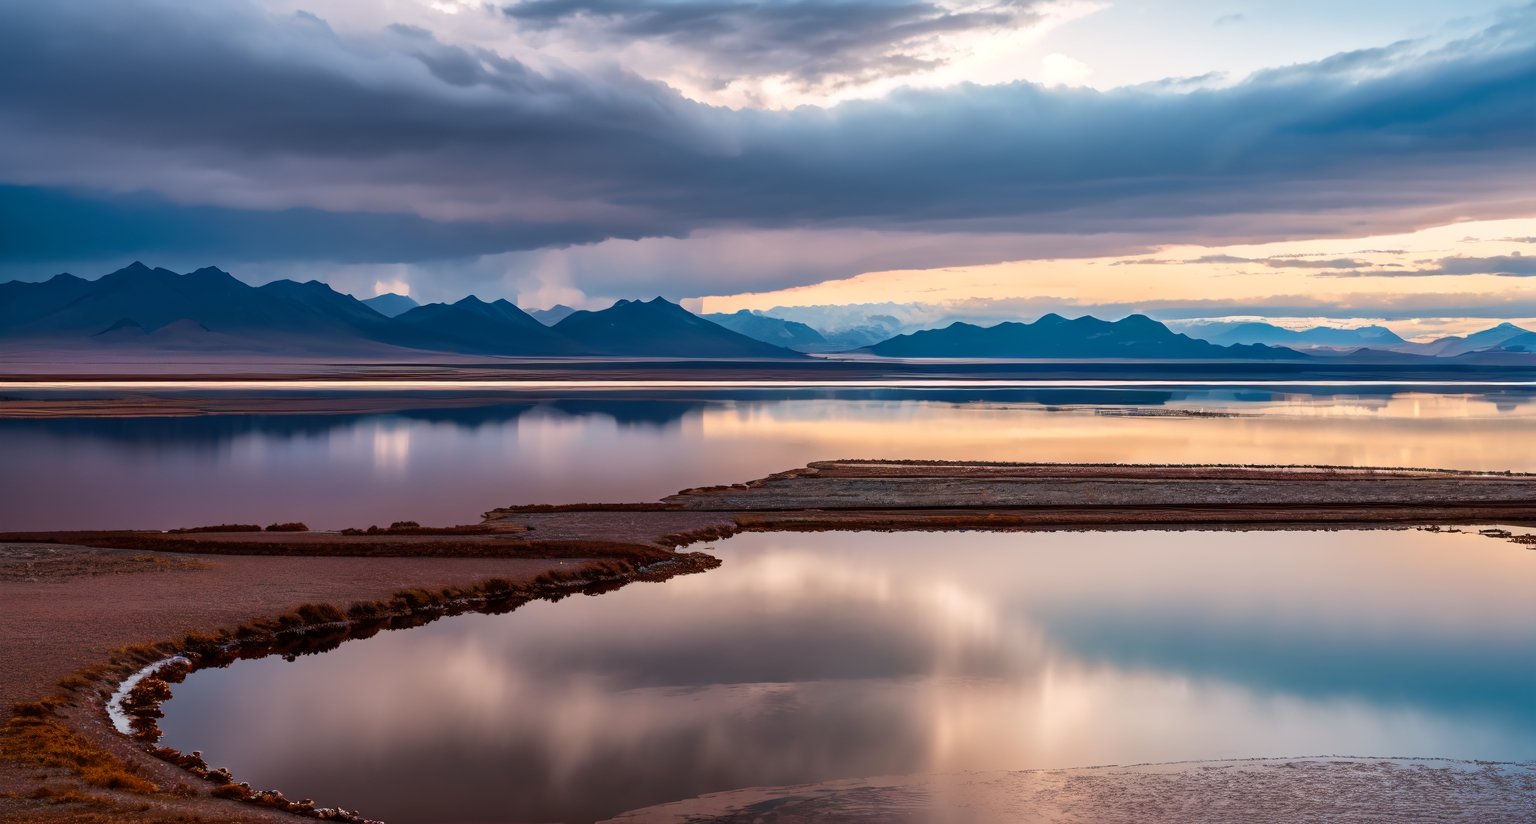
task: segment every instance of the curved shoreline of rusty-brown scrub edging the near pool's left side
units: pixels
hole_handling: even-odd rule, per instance
[[[158,746],[155,719],[161,716],[160,703],[170,695],[169,684],[235,660],[313,655],[452,615],[504,613],[536,600],[665,581],[719,563],[705,553],[674,553],[660,561],[554,561],[518,576],[406,589],[350,606],[343,606],[346,598],[306,603],[237,626],[118,647],[60,678],[48,695],[17,701],[11,709],[0,736],[0,821],[84,821],[77,818],[84,804],[86,810],[106,810],[108,821],[161,821],[149,813],[164,807],[177,810],[175,821],[292,821],[296,815],[362,824],[369,819],[352,810],[289,801],[280,790],[252,789],[227,770],[210,769],[198,753]],[[127,735],[117,716],[129,724]],[[146,806],[144,799],[154,802]],[[230,809],[230,801],[244,804]]]

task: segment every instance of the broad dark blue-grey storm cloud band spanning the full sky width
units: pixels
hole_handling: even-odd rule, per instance
[[[533,71],[407,26],[344,37],[233,0],[0,3],[0,183],[34,188],[8,197],[195,204],[111,200],[111,217],[5,240],[410,261],[699,229],[1359,232],[1330,215],[1393,226],[1530,197],[1533,17],[1422,60],[1393,46],[1226,89],[965,85],[731,111],[633,74]],[[178,214],[207,237],[178,241]]]

